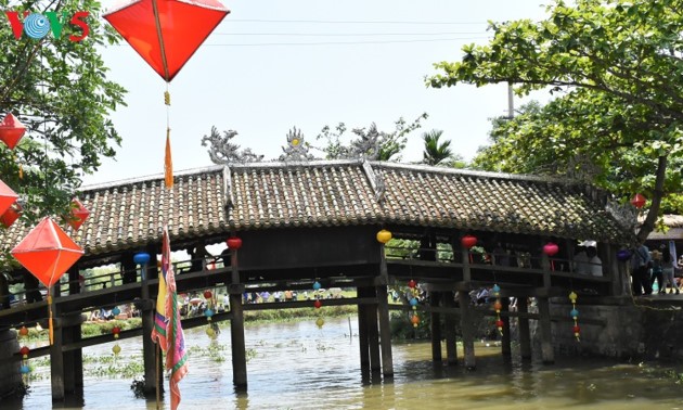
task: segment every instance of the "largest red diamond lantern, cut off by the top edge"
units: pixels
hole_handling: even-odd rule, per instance
[[[170,81],[228,13],[218,0],[133,0],[104,18]]]

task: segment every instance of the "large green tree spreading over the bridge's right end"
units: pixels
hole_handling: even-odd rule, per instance
[[[556,0],[545,21],[491,23],[488,44],[436,64],[427,82],[512,82],[518,94],[550,88],[557,97],[507,123],[489,163],[515,172],[588,168],[592,182],[623,200],[643,192],[652,201],[642,242],[662,198],[683,188],[673,167],[683,151],[682,11],[683,0]]]

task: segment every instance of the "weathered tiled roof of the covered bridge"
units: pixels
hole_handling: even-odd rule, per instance
[[[373,178],[379,175],[382,183]],[[85,188],[91,212],[67,232],[89,254],[171,236],[198,238],[286,227],[405,225],[628,241],[626,232],[581,185],[531,176],[463,171],[358,161],[255,163]],[[378,183],[378,185],[377,185]],[[377,201],[377,196],[381,197]],[[27,233],[12,228],[3,246]]]

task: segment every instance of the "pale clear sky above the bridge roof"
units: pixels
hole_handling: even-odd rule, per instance
[[[234,142],[274,159],[292,127],[322,145],[315,136],[325,125],[343,121],[350,130],[374,121],[391,131],[399,117],[412,121],[422,113],[429,118],[410,134],[403,162],[422,158],[421,134],[431,129],[469,159],[487,143],[490,118],[506,114],[506,87],[430,89],[424,78],[436,73],[434,63],[460,60],[464,44],[487,42],[487,21],[543,20],[547,1],[222,3],[231,13],[170,84],[176,171],[212,165],[201,145],[211,126],[236,130]],[[125,42],[103,57],[109,78],[129,91],[128,106],[112,115],[124,140],[115,159],[83,178],[86,187],[164,169],[164,80]]]

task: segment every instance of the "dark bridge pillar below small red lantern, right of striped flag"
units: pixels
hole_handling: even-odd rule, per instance
[[[232,344],[232,383],[235,389],[246,392],[246,343],[244,338],[244,309],[242,308],[242,294],[244,286],[240,282],[240,269],[237,264],[237,249],[230,251],[230,265],[232,269],[230,284],[230,338]]]

